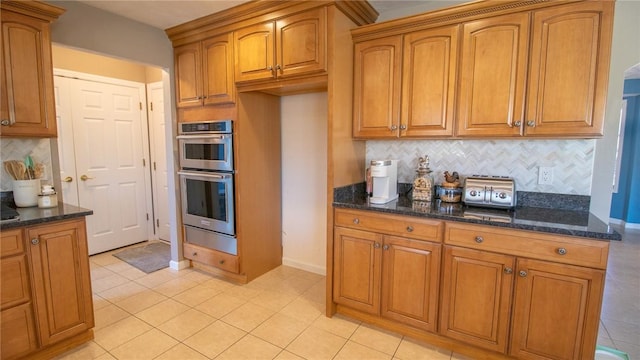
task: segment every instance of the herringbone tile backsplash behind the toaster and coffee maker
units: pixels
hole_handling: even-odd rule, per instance
[[[366,161],[399,160],[399,182],[412,182],[418,158],[429,155],[436,184],[457,171],[510,176],[519,191],[591,195],[594,152],[595,140],[376,140],[367,141]],[[540,166],[553,168],[553,184],[538,184]]]

